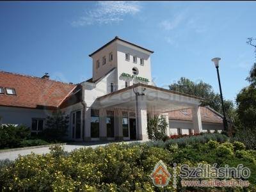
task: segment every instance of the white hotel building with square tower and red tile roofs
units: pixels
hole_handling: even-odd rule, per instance
[[[201,98],[154,84],[152,53],[116,36],[89,55],[92,79],[75,85],[0,72],[0,124],[24,124],[36,134],[60,108],[70,116],[70,140],[147,140],[154,115],[166,118],[167,135],[221,131],[222,116],[199,107]]]

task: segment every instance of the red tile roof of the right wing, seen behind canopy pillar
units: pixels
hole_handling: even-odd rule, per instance
[[[218,123],[222,124],[222,117],[218,115],[216,111],[209,107],[200,107],[201,120],[207,123]],[[193,114],[192,109],[180,109],[169,112],[170,120],[187,120],[192,121]]]

